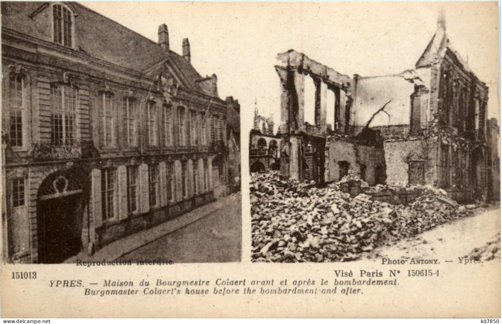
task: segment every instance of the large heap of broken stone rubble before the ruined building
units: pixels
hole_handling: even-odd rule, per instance
[[[280,179],[277,174],[252,175],[250,203],[254,261],[350,261],[470,215],[465,206],[433,191],[410,205],[372,201],[368,195],[337,190],[337,184]]]

